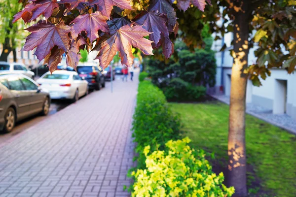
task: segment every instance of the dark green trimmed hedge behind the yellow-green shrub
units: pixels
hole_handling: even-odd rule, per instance
[[[168,140],[181,137],[179,115],[172,112],[163,92],[150,81],[139,84],[133,119],[138,168],[145,168],[145,146],[150,145],[151,151],[162,150]]]

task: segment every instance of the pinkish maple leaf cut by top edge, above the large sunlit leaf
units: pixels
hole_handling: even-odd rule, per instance
[[[120,7],[122,9],[132,9],[130,0],[90,0],[90,5],[97,5],[98,11],[100,11],[104,16],[110,19],[110,14],[113,6]]]

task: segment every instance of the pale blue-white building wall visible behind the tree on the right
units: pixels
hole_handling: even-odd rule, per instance
[[[225,34],[222,40],[217,40],[213,44],[213,50],[217,51],[217,74],[216,87],[212,94],[223,94],[230,96],[231,87],[231,67],[233,58],[230,56],[232,33]],[[228,47],[224,52],[220,52],[223,44]],[[249,65],[256,62],[254,50],[249,52]],[[247,84],[246,102],[264,107],[273,114],[287,114],[296,119],[296,74],[288,74],[285,69],[271,69],[271,76],[266,80],[261,79],[262,86],[253,86],[252,81]]]

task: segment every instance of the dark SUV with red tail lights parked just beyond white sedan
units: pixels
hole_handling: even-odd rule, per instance
[[[105,76],[98,66],[77,66],[77,73],[88,82],[90,90],[100,90],[105,87]]]

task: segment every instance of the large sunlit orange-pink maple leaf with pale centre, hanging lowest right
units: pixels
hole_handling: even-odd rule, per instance
[[[142,26],[125,25],[109,39],[94,47],[93,50],[100,51],[96,59],[105,69],[119,51],[122,65],[131,66],[134,60],[132,46],[139,48],[145,55],[153,55],[152,41],[143,38],[149,34]]]

